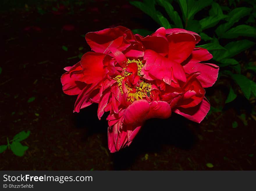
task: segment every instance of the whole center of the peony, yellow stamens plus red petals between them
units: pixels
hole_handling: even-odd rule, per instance
[[[136,63],[137,68],[133,72],[126,71],[129,65]],[[141,69],[144,66],[141,60],[129,60],[126,63],[127,68],[123,68],[121,75],[117,75],[114,80],[117,81],[118,87],[122,94],[127,92],[127,101],[131,103],[139,99],[147,99],[150,97],[151,84],[145,81],[141,76]],[[136,66],[135,65],[135,66]],[[129,70],[131,71],[131,69]],[[126,89],[124,91],[124,89]]]

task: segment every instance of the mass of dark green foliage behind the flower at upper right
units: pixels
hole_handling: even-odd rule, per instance
[[[255,24],[256,1],[245,1],[250,5],[249,7],[237,7],[238,0],[229,0],[229,6],[220,6],[212,0],[176,0],[180,10],[174,10],[173,1],[168,0],[131,1],[130,3],[151,16],[160,26],[185,28],[199,33],[203,41],[209,41],[197,47],[206,48],[214,56],[213,60],[216,64],[220,66],[220,76],[230,76],[240,87],[244,96],[250,99],[251,96],[256,97],[256,83],[242,75],[241,72],[246,70],[255,72],[256,66],[250,63],[242,68],[240,63],[233,58],[255,45],[255,42],[251,40],[241,39],[241,37],[256,38],[256,28],[250,25],[250,23]],[[160,11],[156,10],[156,5],[163,7],[169,18],[165,18]],[[195,20],[195,15],[200,14],[203,9],[209,10],[209,16],[202,15],[201,20]],[[179,13],[182,14],[179,15]],[[237,22],[245,17],[248,17],[247,21],[238,25]],[[211,32],[214,34],[208,34],[209,30],[205,31],[208,28],[212,28]],[[141,35],[150,33],[149,31],[137,32]],[[229,39],[229,42],[219,44],[221,39]],[[223,71],[224,67],[225,71]],[[233,88],[230,88],[225,103],[233,101],[236,97],[237,94]]]

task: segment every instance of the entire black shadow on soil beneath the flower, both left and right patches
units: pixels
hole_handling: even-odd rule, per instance
[[[97,104],[92,104],[79,113],[75,113],[74,122],[77,128],[86,129],[83,140],[87,140],[93,134],[105,135],[102,146],[107,148],[108,124],[106,117],[108,113],[105,113],[99,120],[97,108]],[[129,147],[115,153],[109,153],[113,161],[113,170],[129,169],[141,154],[160,153],[163,145],[173,145],[184,150],[191,149],[198,140],[191,129],[198,126],[199,124],[175,113],[168,119],[147,120]]]

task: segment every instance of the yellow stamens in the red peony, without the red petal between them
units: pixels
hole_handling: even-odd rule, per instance
[[[141,73],[141,68],[144,66],[143,63],[140,60],[129,60],[127,62],[127,65],[129,65],[129,63],[136,63],[138,66],[138,75],[140,75]],[[126,68],[124,68],[126,69]],[[121,93],[123,94],[123,90],[122,90],[122,81],[125,77],[131,75],[132,73],[130,72],[124,72],[123,76],[121,75],[117,75],[115,76],[115,78],[113,78],[114,80],[117,81],[118,87],[121,91]],[[139,99],[143,99],[145,97],[150,97],[150,91],[151,91],[151,84],[146,83],[144,81],[141,81],[139,85],[135,86],[135,88],[130,87],[129,85],[127,85],[125,83],[125,87],[128,90],[128,97],[127,97],[127,101],[131,101],[134,102],[135,100],[139,100]]]

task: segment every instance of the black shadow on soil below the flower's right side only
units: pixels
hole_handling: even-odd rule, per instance
[[[159,153],[163,145],[191,149],[198,138],[189,128],[196,123],[177,114],[168,119],[149,119],[129,147],[113,153],[114,170],[128,169],[142,153]]]

